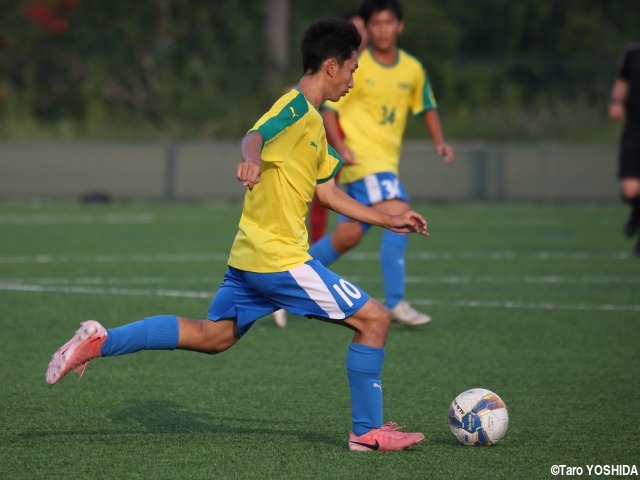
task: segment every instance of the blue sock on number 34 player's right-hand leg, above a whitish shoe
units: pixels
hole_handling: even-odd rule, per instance
[[[404,298],[404,252],[409,236],[385,230],[380,246],[380,266],[384,284],[385,305],[395,307]]]

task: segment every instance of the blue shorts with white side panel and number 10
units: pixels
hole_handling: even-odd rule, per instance
[[[360,310],[369,295],[317,260],[286,272],[254,273],[228,267],[209,305],[207,319],[237,319],[244,335],[261,317],[284,308],[294,315],[344,320]]]

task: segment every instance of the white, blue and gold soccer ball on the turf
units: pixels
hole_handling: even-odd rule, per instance
[[[495,445],[508,427],[507,406],[490,390],[473,388],[462,392],[449,407],[449,429],[464,445]]]

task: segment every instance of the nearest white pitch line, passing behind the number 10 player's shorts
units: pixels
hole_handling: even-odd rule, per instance
[[[29,293],[62,293],[88,295],[119,295],[119,296],[153,296],[180,298],[211,298],[213,291],[185,291],[170,289],[128,289],[101,288],[86,286],[46,286],[19,283],[1,283],[0,291],[15,291]],[[484,301],[484,300],[412,300],[416,305],[445,305],[467,308],[498,308],[498,309],[534,309],[534,310],[577,310],[577,311],[605,311],[605,312],[640,312],[640,305],[612,305],[587,303],[551,303],[551,302],[517,302],[517,301]]]

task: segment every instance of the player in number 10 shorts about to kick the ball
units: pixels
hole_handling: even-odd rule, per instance
[[[388,311],[307,251],[305,217],[314,192],[324,206],[343,215],[428,236],[420,214],[391,215],[366,207],[333,180],[342,159],[327,143],[318,109],[353,87],[359,43],[360,34],[349,21],[311,25],[302,40],[304,73],[298,86],[277,100],[244,138],[243,162],[236,170],[247,188],[242,217],[206,319],[157,315],[109,330],[95,320],[85,321],[54,353],[47,383],[57,383],[71,370],[81,375],[96,357],[175,348],[221,353],[256,320],[285,308],[354,331],[347,352],[351,450],[403,450],[424,439],[422,433],[403,432],[396,423],[382,421],[380,373],[391,322]]]

